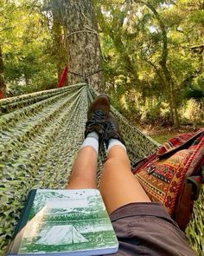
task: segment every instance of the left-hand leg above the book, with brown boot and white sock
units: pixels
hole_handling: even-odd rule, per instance
[[[85,130],[86,139],[73,163],[67,189],[97,188],[99,135],[104,131],[104,122],[109,111],[110,100],[107,95],[99,95],[89,107]]]

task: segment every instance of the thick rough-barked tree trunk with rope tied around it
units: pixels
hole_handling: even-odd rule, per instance
[[[68,70],[78,74],[68,73],[68,83],[88,82],[102,89],[101,50],[92,0],[64,0],[62,5]]]

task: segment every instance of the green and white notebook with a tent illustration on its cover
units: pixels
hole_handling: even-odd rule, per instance
[[[7,255],[116,253],[118,240],[97,189],[33,189]]]

